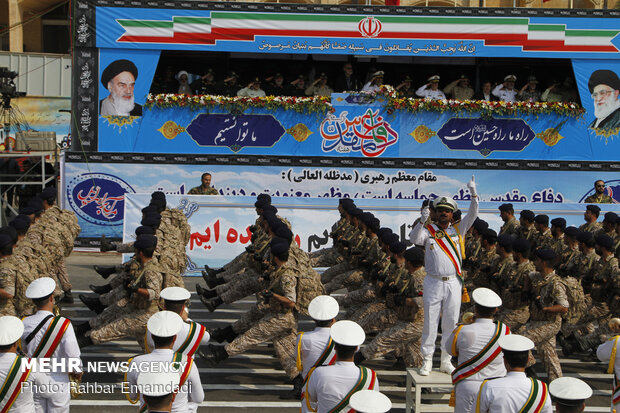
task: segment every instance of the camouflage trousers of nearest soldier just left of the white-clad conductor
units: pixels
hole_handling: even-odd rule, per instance
[[[362,349],[362,355],[367,360],[373,360],[408,344],[418,343],[422,337],[423,327],[424,311],[418,311],[414,321],[398,320],[396,324],[383,330],[365,346]]]

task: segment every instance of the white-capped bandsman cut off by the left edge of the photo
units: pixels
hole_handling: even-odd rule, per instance
[[[0,411],[8,413],[34,412],[33,390],[48,386],[49,380],[43,373],[30,371],[23,377],[22,374],[11,375],[12,369],[20,373],[26,357],[17,355],[17,342],[24,332],[24,324],[17,317],[0,317],[0,389],[5,394],[0,399]],[[4,392],[4,390],[7,390]],[[8,409],[8,410],[7,410]]]

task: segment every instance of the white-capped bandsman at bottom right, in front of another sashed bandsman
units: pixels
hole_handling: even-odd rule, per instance
[[[525,375],[527,356],[534,342],[518,334],[509,334],[499,340],[499,346],[508,373],[506,377],[482,382],[476,413],[552,413],[547,385]]]

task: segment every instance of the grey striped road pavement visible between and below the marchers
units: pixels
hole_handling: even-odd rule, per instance
[[[94,264],[113,265],[120,263],[120,259],[120,255],[112,253],[74,252],[67,261],[74,292],[86,292],[89,291],[89,284],[104,283],[102,278],[93,271],[92,266]],[[186,278],[185,284],[193,292],[196,282],[202,282],[202,279]],[[241,313],[250,308],[253,302],[253,297],[247,297],[234,305],[223,306],[216,312],[209,313],[193,294],[190,315],[192,319],[203,323],[207,328],[222,327],[236,320]],[[94,313],[81,305],[76,294],[76,304],[65,307],[63,315],[79,323],[92,317]],[[300,330],[312,328],[312,321],[300,320]],[[82,356],[84,363],[103,360],[120,362],[126,361],[139,352],[140,347],[134,341],[123,340],[88,347]],[[217,368],[206,368],[205,363],[197,358],[196,362],[205,388],[205,402],[200,411],[298,412],[299,403],[292,400],[280,400],[279,398],[279,395],[284,394],[292,386],[286,382],[284,371],[280,369],[272,354],[273,349],[268,345],[263,345],[247,354],[232,357],[221,363]],[[609,408],[606,406],[609,405],[612,376],[605,374],[606,366],[598,362],[584,362],[574,359],[561,359],[561,362],[565,375],[586,380],[595,389],[594,397],[590,400],[590,406],[586,411],[609,412]],[[405,406],[405,372],[391,369],[393,363],[393,360],[380,360],[369,363],[368,366],[377,371],[382,392],[387,394],[394,404],[395,409],[393,411],[403,412]],[[435,360],[435,365],[439,365],[438,359]],[[542,368],[540,363],[537,366],[539,370]],[[545,376],[542,371],[539,373],[541,373],[541,377]],[[116,383],[119,386],[121,381],[122,376],[120,374],[97,373],[86,374],[83,383],[90,383],[91,385],[94,383],[100,385]],[[447,408],[448,398],[449,394],[447,393],[427,395],[426,401],[429,404],[426,407],[431,408],[432,411],[452,411]],[[96,407],[98,413],[124,413],[137,410],[136,406],[127,402],[120,388],[117,388],[113,394],[83,395],[73,400],[71,410],[73,412],[91,413],[93,407]],[[445,409],[440,410],[441,407]]]

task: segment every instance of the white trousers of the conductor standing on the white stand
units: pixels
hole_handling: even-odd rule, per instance
[[[422,330],[422,355],[430,357],[435,352],[437,328],[441,316],[441,349],[446,350],[448,336],[456,328],[461,310],[461,282],[456,276],[442,281],[428,274],[424,278],[424,329]]]

